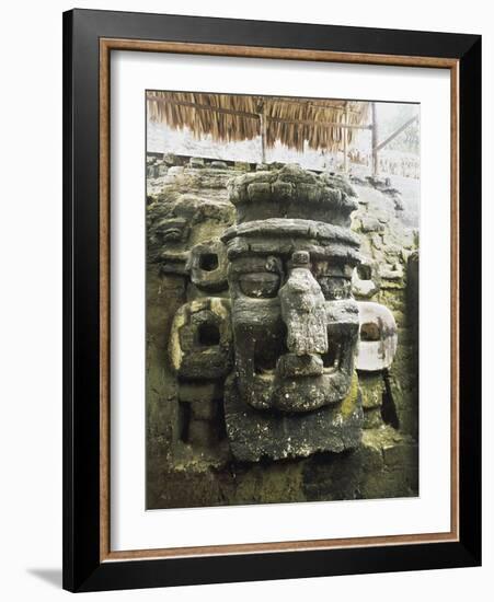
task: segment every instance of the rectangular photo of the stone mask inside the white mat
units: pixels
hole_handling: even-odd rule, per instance
[[[420,103],[142,111],[146,509],[418,497]]]

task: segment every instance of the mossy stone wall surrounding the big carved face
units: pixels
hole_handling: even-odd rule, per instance
[[[400,193],[387,181],[351,182],[358,201],[352,229],[359,235],[363,255],[353,293],[361,303],[386,305],[398,326],[391,367],[358,371],[352,389],[364,408],[365,428],[357,449],[239,462],[226,436],[222,384],[212,378],[227,366],[227,356],[212,361],[216,368],[210,379],[191,384],[176,378],[183,358],[169,345],[174,321],[200,321],[206,314],[221,313],[220,302],[211,305],[208,301],[208,290],[216,299],[227,302],[229,298],[225,282],[194,278],[194,265],[207,261],[207,254],[196,258],[191,250],[210,245],[234,223],[227,189],[233,176],[279,167],[148,157],[149,509],[418,495],[418,240],[410,219],[403,219],[406,206]],[[218,257],[221,261],[220,253]],[[191,301],[187,315],[182,315],[184,303]],[[204,336],[216,335],[205,332]],[[194,366],[186,369],[194,377]]]

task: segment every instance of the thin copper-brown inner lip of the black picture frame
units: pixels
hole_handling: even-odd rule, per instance
[[[448,69],[451,78],[451,525],[447,533],[113,552],[110,546],[110,57],[112,50],[176,53]],[[217,44],[100,39],[100,560],[338,549],[458,542],[459,522],[459,60]]]

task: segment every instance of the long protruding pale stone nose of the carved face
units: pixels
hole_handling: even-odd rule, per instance
[[[324,296],[310,271],[307,251],[295,252],[288,280],[279,289],[287,347],[296,356],[328,351]]]

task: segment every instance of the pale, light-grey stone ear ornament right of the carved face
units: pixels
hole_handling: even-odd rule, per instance
[[[358,303],[360,316],[357,370],[377,372],[388,369],[398,346],[397,323],[393,314],[380,303]]]

